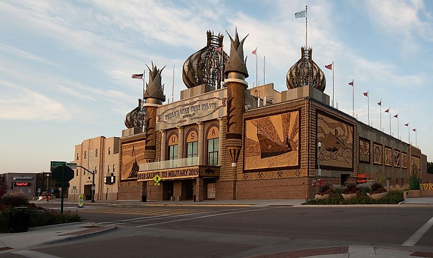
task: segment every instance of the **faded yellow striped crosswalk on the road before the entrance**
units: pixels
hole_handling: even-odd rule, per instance
[[[143,208],[100,208],[100,209],[86,209],[80,212],[93,212],[93,213],[114,213],[114,214],[134,214],[134,215],[149,215],[149,216],[171,216],[178,214],[194,213],[198,209],[143,209]]]

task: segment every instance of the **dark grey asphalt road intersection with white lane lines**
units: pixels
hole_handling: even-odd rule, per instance
[[[431,208],[66,205],[65,210],[118,229],[37,251],[65,258],[248,257],[341,245],[433,251],[433,227],[413,247],[402,246],[433,217]]]

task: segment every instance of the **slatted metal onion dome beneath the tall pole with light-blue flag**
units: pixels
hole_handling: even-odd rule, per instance
[[[287,72],[287,89],[295,89],[309,85],[323,92],[326,87],[326,79],[323,71],[312,59],[313,49],[305,50],[301,47],[301,59]]]

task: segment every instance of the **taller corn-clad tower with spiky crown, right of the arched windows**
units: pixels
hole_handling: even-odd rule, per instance
[[[248,35],[247,35],[248,36]],[[248,78],[246,70],[246,58],[243,58],[243,41],[239,40],[239,35],[236,30],[235,39],[230,34],[229,61],[225,66],[225,85],[227,88],[227,126],[225,134],[225,147],[228,149],[232,160],[232,167],[236,171],[240,149],[242,146],[242,113],[245,105],[245,90],[248,83],[245,78]],[[236,180],[236,172],[233,175],[233,180]]]

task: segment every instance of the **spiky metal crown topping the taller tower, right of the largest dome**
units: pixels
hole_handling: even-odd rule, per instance
[[[229,32],[227,32],[229,34]],[[230,72],[238,72],[248,78],[248,70],[246,70],[246,58],[243,59],[243,41],[248,35],[246,35],[242,40],[239,40],[238,30],[235,32],[235,39],[230,36],[230,41],[232,41],[230,47],[230,57],[227,66],[225,67],[224,73],[228,74]]]

